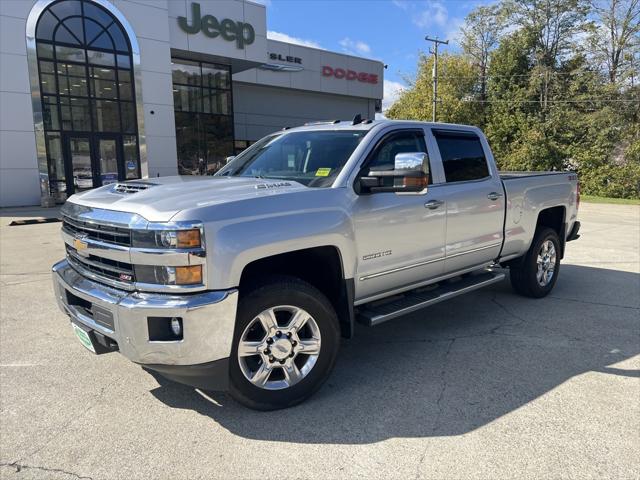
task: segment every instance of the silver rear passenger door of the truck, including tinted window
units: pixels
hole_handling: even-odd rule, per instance
[[[500,176],[474,131],[433,129],[432,133],[445,177],[434,188],[446,205],[445,273],[486,264],[502,246]]]

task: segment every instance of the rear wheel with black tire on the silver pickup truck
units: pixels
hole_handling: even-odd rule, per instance
[[[550,243],[549,243],[550,242]],[[543,276],[540,278],[538,270],[538,257],[545,258],[543,247],[553,245],[555,254],[547,257],[548,262],[543,260],[542,270]],[[547,253],[550,249],[547,250]],[[550,228],[541,228],[531,242],[531,247],[519,264],[513,264],[510,268],[511,286],[520,295],[531,298],[545,297],[553,290],[560,273],[560,239],[555,230]],[[548,277],[547,272],[551,271]]]

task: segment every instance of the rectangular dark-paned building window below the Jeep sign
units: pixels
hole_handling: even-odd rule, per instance
[[[178,173],[213,174],[234,154],[231,68],[172,59]]]

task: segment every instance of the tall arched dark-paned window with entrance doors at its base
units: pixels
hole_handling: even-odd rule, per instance
[[[140,177],[131,44],[89,0],[52,2],[36,26],[51,194]]]

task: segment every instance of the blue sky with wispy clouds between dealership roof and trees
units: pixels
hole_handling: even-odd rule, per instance
[[[467,0],[259,0],[267,6],[267,37],[381,60],[383,110],[415,75],[424,37],[450,40],[457,51],[464,17],[481,1]]]

